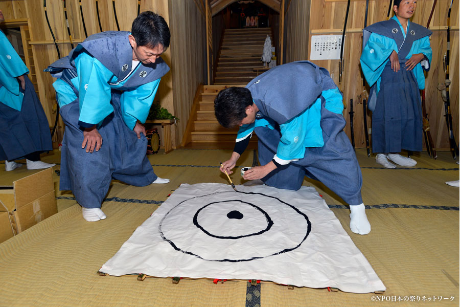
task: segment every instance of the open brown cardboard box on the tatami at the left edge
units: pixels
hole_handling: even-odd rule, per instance
[[[52,176],[47,168],[0,189],[0,214],[8,213],[14,234],[57,213]]]

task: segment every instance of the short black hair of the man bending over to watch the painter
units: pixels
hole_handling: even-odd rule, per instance
[[[162,45],[164,50],[169,47],[171,33],[165,18],[152,11],[139,14],[131,26],[131,35],[137,46],[155,48]]]

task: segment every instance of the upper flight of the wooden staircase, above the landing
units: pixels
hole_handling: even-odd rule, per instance
[[[214,84],[247,84],[263,68],[260,60],[271,28],[226,29],[217,58]]]

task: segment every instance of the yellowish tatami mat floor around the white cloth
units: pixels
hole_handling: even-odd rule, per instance
[[[158,176],[171,182],[132,187],[113,181],[103,203],[107,219],[97,223],[85,222],[73,194],[59,191],[55,172],[59,212],[0,244],[0,306],[459,305],[459,189],[445,184],[458,180],[459,169],[449,152],[439,152],[437,160],[421,152],[414,156],[416,167],[385,169],[358,149],[362,196],[372,225],[365,236],[350,232],[349,209],[337,195],[316,181],[304,182],[323,195],[369,260],[387,288],[383,296],[288,290],[270,283],[247,287],[244,281],[214,284],[183,279],[172,284],[171,279],[147,278],[141,282],[96,274],[181,183],[227,184],[217,168],[230,153],[176,149],[149,156]],[[57,163],[53,170],[59,170],[59,151],[42,155],[42,160]],[[251,166],[253,161],[254,150],[247,150],[237,167]],[[5,172],[0,164],[0,185],[34,172],[25,167]],[[244,182],[238,172],[232,180],[235,185]]]

